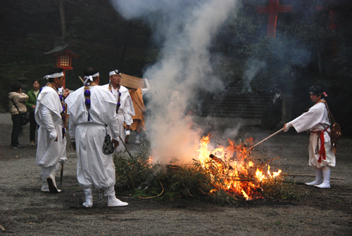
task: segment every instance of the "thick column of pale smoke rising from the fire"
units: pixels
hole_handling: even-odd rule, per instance
[[[197,157],[201,129],[187,116],[195,89],[220,91],[213,74],[209,47],[219,27],[235,14],[237,0],[111,0],[127,19],[148,21],[161,42],[161,59],[146,69],[151,84],[146,129],[153,157],[161,163],[172,157],[189,162]]]

